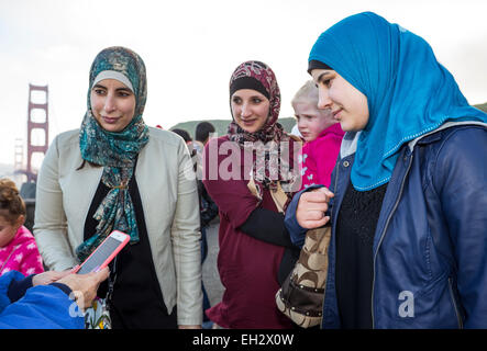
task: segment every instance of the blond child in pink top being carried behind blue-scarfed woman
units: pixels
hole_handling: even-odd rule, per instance
[[[330,186],[344,132],[330,110],[318,109],[318,88],[309,80],[291,101],[305,139],[301,154],[301,190],[313,184]]]

